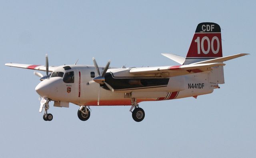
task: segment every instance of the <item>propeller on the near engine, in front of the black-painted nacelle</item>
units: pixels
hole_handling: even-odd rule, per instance
[[[99,94],[98,94],[98,102],[97,102],[98,105],[99,105],[100,104],[100,89],[101,89],[102,84],[105,84],[108,87],[108,89],[110,89],[110,90],[112,90],[112,92],[114,92],[114,88],[112,88],[107,82],[105,82],[105,74],[106,74],[106,72],[108,70],[108,67],[110,65],[110,60],[106,64],[106,66],[105,66],[104,70],[101,72],[101,74],[100,74],[100,70],[99,70],[99,67],[98,67],[98,64],[97,64],[95,58],[92,58],[92,61],[93,61],[94,67],[96,68],[96,72],[97,72],[98,76],[94,77],[92,80],[90,80],[87,83],[87,85],[95,83],[95,82],[100,85]]]

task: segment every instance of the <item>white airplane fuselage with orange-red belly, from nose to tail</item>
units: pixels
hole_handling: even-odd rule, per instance
[[[71,69],[64,70],[64,66],[70,66]],[[56,102],[71,102],[79,106],[97,105],[99,84],[87,84],[97,76],[95,67],[84,65],[64,66],[59,66],[54,72],[63,72],[64,74],[74,72],[74,83],[65,83],[63,77],[50,77],[36,86],[38,94]],[[104,67],[99,67],[99,69],[101,72]],[[100,106],[131,105],[130,98],[137,98],[137,103],[139,103],[142,101],[171,100],[191,96],[196,97],[212,93],[214,88],[218,88],[218,84],[208,82],[209,73],[207,72],[163,78],[156,75],[132,75],[129,73],[130,69],[131,68],[108,69],[107,73],[110,73],[117,82],[126,82],[128,86],[135,86],[135,88],[115,89],[115,83],[111,84],[114,88],[114,92],[107,88],[101,88]],[[150,86],[149,84],[151,82],[155,82],[157,85]],[[162,83],[159,84],[158,82]]]

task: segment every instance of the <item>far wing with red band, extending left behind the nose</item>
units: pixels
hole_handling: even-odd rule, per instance
[[[15,64],[15,63],[6,63],[5,65],[16,67],[16,68],[26,68],[31,70],[46,71],[46,66],[43,66],[43,65]],[[56,66],[49,66],[49,72],[53,72],[55,68]]]

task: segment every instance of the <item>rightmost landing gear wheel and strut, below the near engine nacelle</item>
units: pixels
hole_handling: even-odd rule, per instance
[[[137,100],[136,98],[131,98],[131,108],[130,108],[130,112],[132,112],[132,118],[134,121],[136,122],[140,122],[144,119],[145,117],[145,112],[142,108],[139,108],[139,104],[137,104]],[[134,109],[132,111],[132,109]]]

